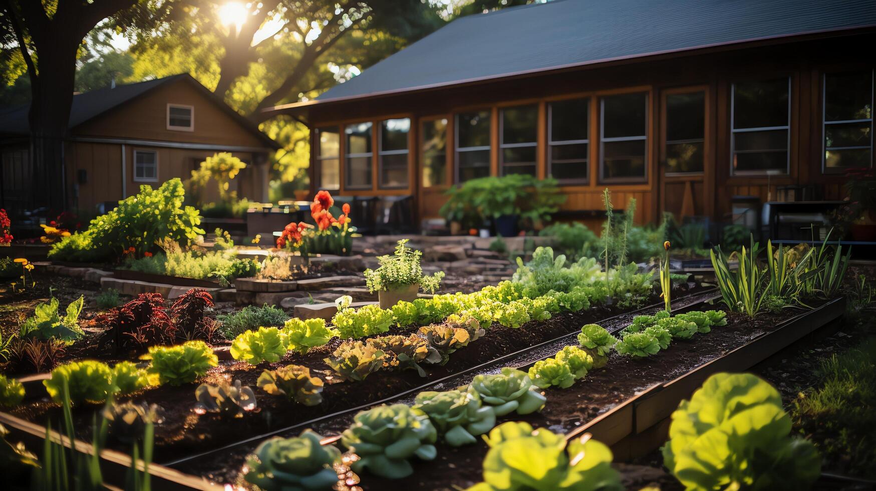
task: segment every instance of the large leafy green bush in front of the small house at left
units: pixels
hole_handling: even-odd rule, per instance
[[[140,186],[105,215],[91,220],[86,231],[76,232],[52,245],[49,257],[74,262],[113,261],[133,247],[138,256],[166,240],[189,245],[204,233],[201,217],[191,206],[183,208],[182,181],[173,178],[159,189]]]

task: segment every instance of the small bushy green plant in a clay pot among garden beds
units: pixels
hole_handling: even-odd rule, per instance
[[[378,292],[381,309],[390,309],[400,301],[413,302],[420,288],[434,293],[441,285],[444,272],[423,275],[421,255],[420,251],[407,246],[405,238],[399,240],[392,256],[378,257],[380,267],[365,270],[365,284],[372,293]]]

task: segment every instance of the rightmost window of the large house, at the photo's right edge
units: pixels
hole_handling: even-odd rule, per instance
[[[872,167],[872,70],[824,75],[824,172]]]

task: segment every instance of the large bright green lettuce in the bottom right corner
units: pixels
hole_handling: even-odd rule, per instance
[[[714,374],[672,413],[663,463],[688,489],[807,489],[815,446],[790,438],[781,395],[752,374]]]

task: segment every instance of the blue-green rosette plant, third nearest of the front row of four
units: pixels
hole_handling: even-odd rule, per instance
[[[473,390],[420,392],[414,399],[413,409],[426,413],[450,446],[476,443],[477,435],[496,426],[495,411],[491,406],[484,406],[480,395]]]

